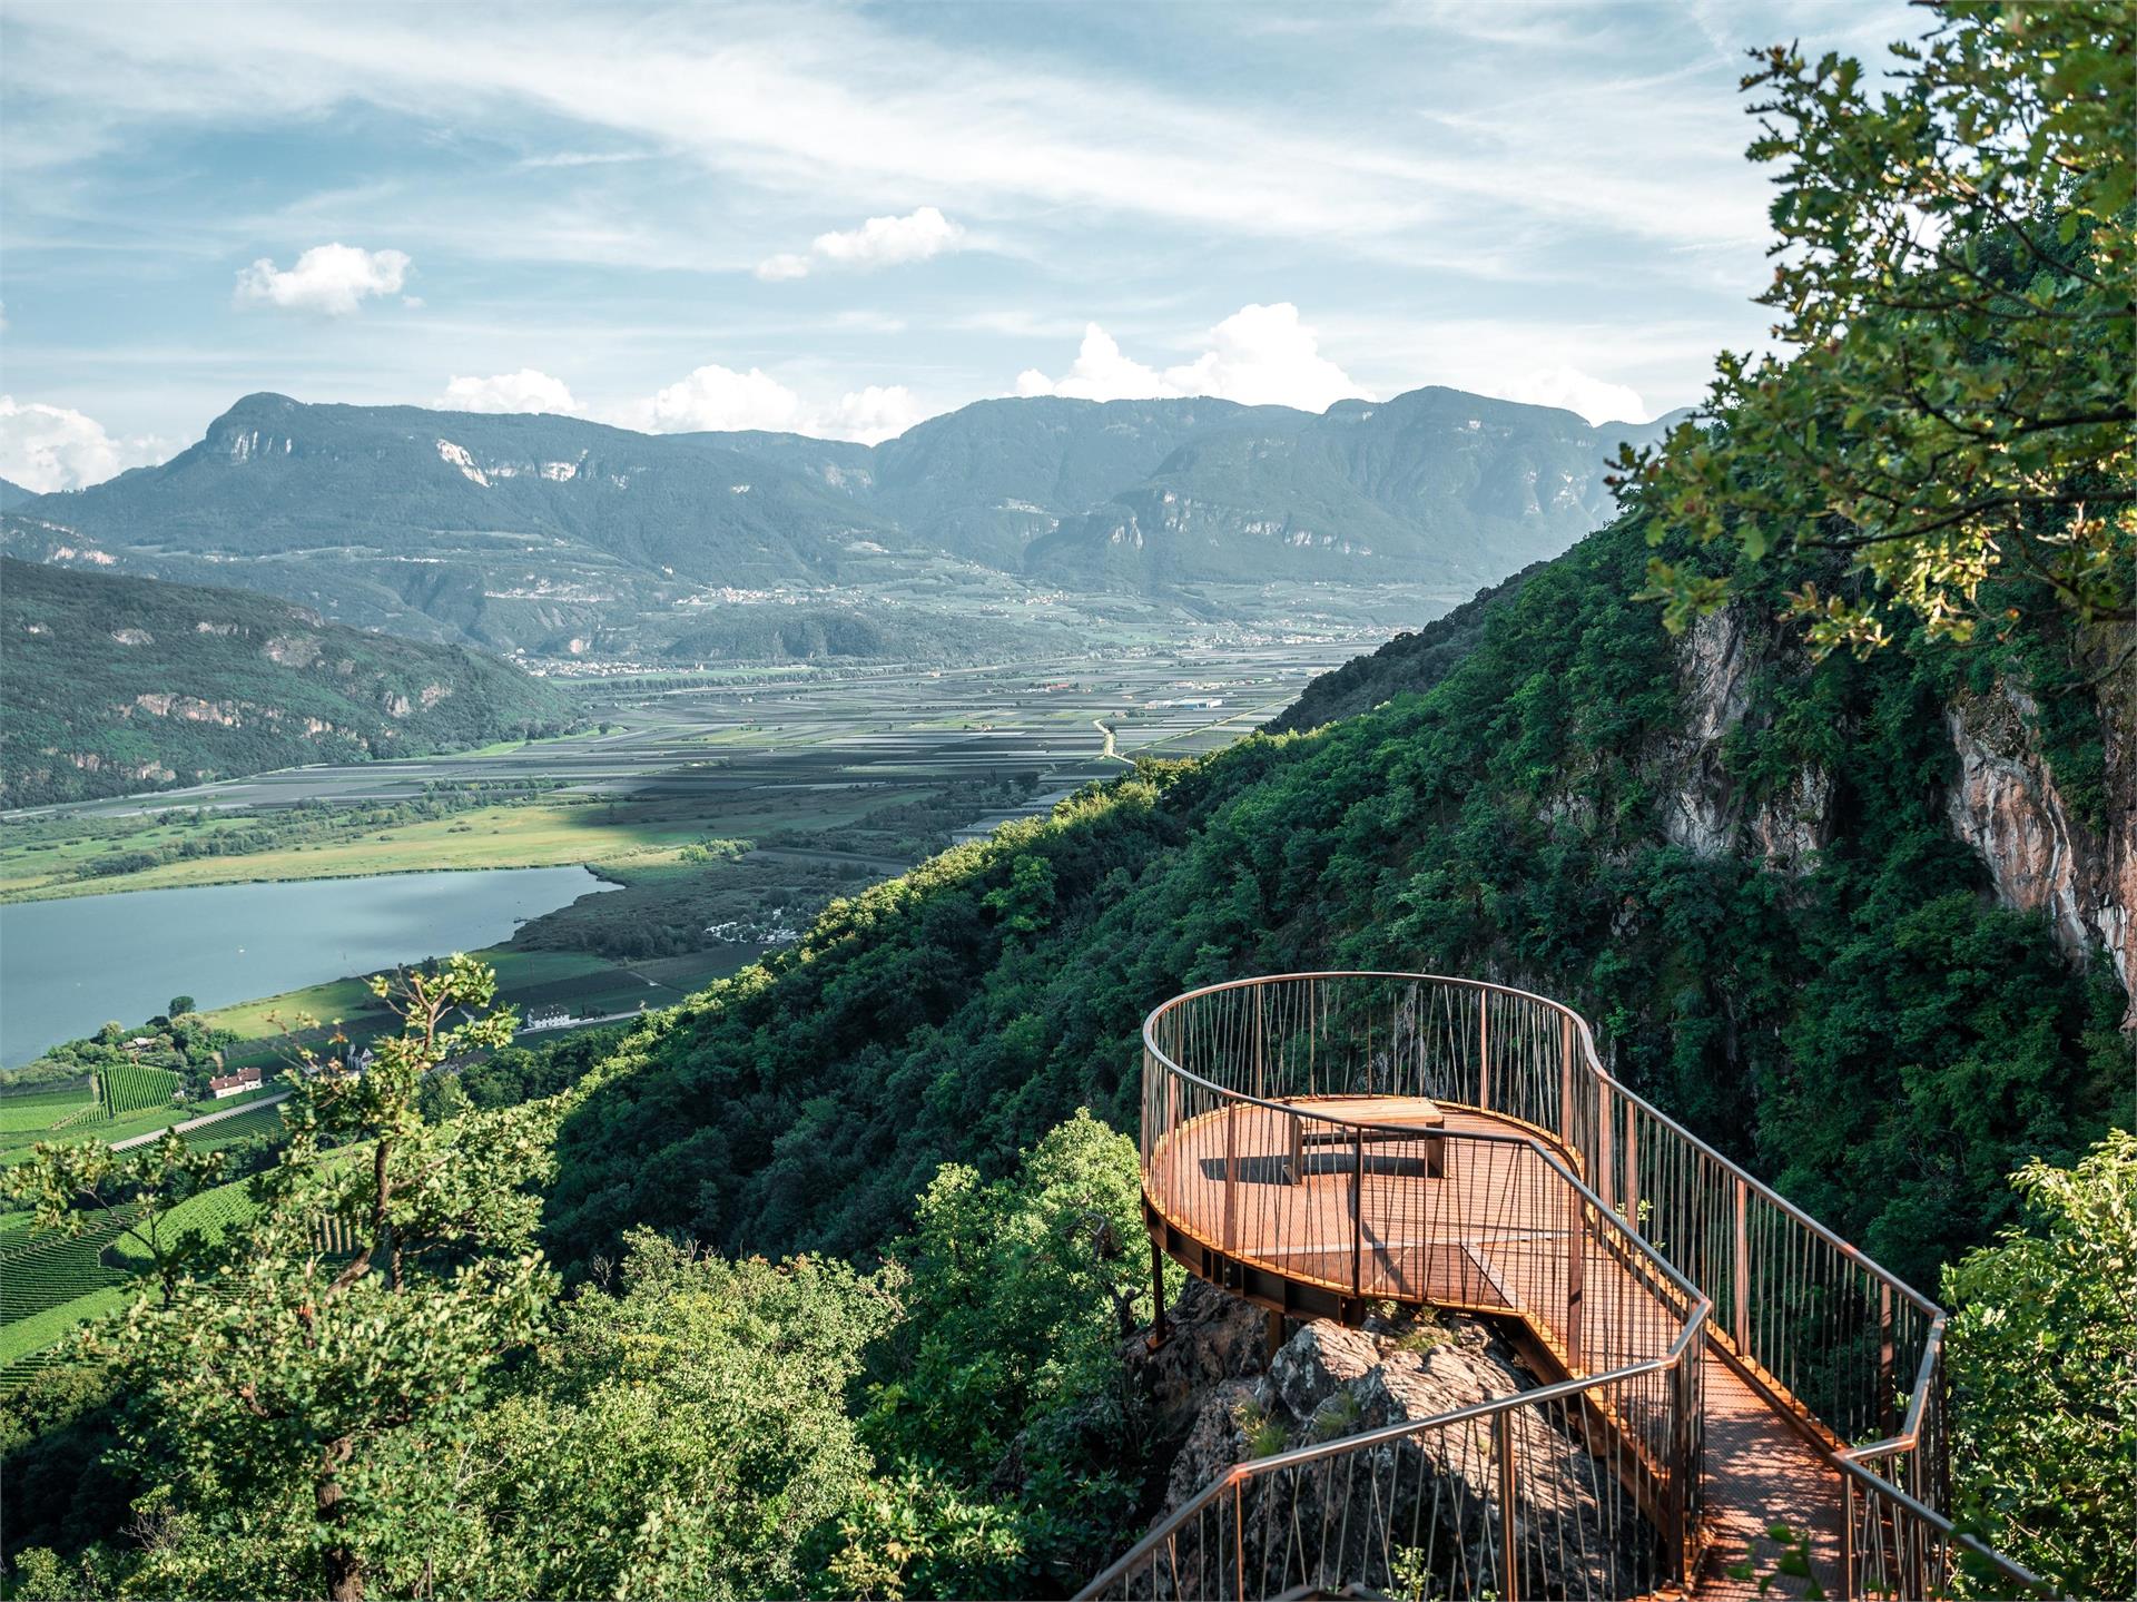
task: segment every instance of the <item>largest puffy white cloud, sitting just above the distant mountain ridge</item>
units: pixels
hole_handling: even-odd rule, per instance
[[[1120,342],[1092,323],[1066,374],[1047,379],[1030,368],[1017,374],[1017,394],[1081,400],[1216,396],[1248,406],[1327,411],[1368,391],[1321,355],[1321,340],[1299,321],[1299,308],[1278,302],[1242,306],[1210,329],[1201,355],[1165,372],[1124,355]]]

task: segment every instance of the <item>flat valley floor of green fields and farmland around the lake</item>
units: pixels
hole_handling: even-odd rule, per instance
[[[583,691],[603,725],[596,734],[9,815],[0,903],[583,864],[613,888],[477,952],[521,1018],[560,1018],[528,1035],[551,1042],[586,1020],[673,1005],[793,939],[831,896],[1043,813],[1139,755],[1227,744],[1348,652],[1316,644],[940,672],[607,680]],[[333,1033],[333,1020],[357,1039],[387,1022],[361,975],[207,1014],[237,1035],[227,1065],[256,1065],[269,1080],[295,1044]],[[26,1129],[11,1149],[141,1136],[201,1110]],[[197,1138],[244,1140],[276,1121],[261,1108]],[[75,1324],[115,1307],[128,1279],[103,1247],[83,1256],[24,1223],[0,1215],[9,1243],[0,1256],[21,1253],[17,1266],[34,1268],[43,1290],[0,1309],[6,1377],[34,1371]]]

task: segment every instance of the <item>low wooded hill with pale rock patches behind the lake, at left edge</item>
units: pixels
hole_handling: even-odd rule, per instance
[[[241,590],[0,558],[0,802],[558,734],[562,691]]]

